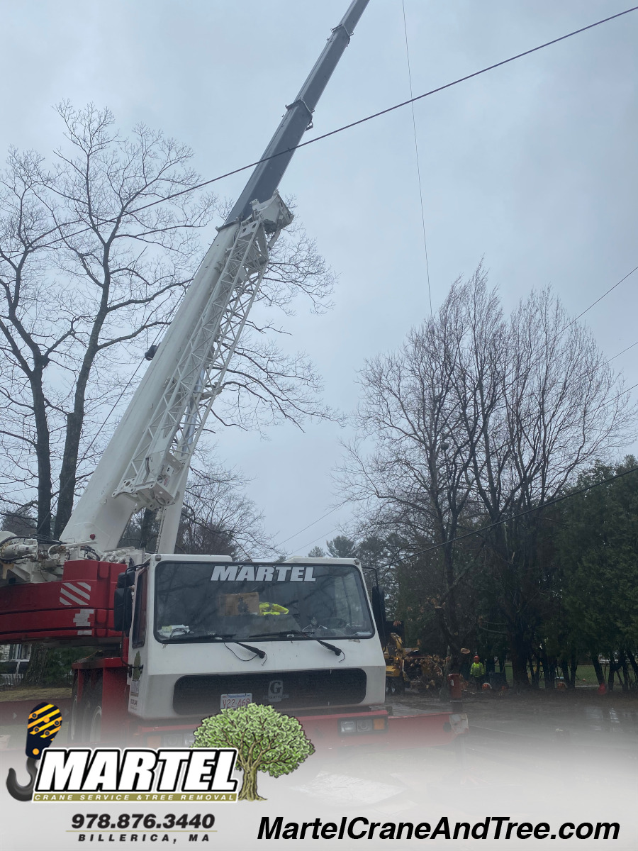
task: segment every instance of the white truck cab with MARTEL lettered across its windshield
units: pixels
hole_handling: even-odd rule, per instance
[[[252,702],[298,714],[385,700],[354,559],[152,556],[136,574],[128,660],[128,711],[146,720]]]

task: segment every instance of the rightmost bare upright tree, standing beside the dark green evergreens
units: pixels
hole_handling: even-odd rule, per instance
[[[542,516],[530,510],[623,446],[635,412],[589,329],[572,322],[549,290],[521,302],[506,341],[504,407],[485,426],[486,434],[506,438],[498,454],[501,469],[495,483],[477,481],[481,507],[490,523],[498,523],[487,540],[514,677],[527,685],[544,585],[537,546]]]

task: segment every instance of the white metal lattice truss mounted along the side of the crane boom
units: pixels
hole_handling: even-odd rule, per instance
[[[190,465],[208,413],[221,391],[259,292],[269,248],[291,220],[292,214],[276,194],[270,202],[255,203],[253,218],[238,227],[208,303],[114,496],[126,494],[138,505],[150,508],[172,505],[178,497],[179,474]]]

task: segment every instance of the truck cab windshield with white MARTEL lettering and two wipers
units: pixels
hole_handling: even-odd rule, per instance
[[[155,598],[161,642],[373,636],[361,574],[349,564],[162,562]]]

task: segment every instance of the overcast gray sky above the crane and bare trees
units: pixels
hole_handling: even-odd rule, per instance
[[[110,106],[192,146],[205,178],[259,157],[347,0],[3,2],[9,144],[59,143],[51,106]],[[612,0],[405,0],[414,94],[628,8]],[[551,284],[576,315],[638,265],[638,13],[415,107],[434,308],[481,257],[507,310]],[[316,110],[322,134],[409,96],[401,0],[371,0]],[[236,197],[246,175],[217,185]],[[356,403],[366,357],[429,312],[409,107],[298,151],[282,181],[339,273],[335,308],[299,306],[290,345],[316,362],[329,404]],[[638,340],[638,272],[584,317],[607,357]],[[638,346],[616,358],[638,382]],[[636,391],[632,391],[636,397]],[[270,439],[226,431],[219,455],[253,477],[276,540],[330,510],[339,436],[328,423]],[[284,546],[305,555],[347,508]]]

